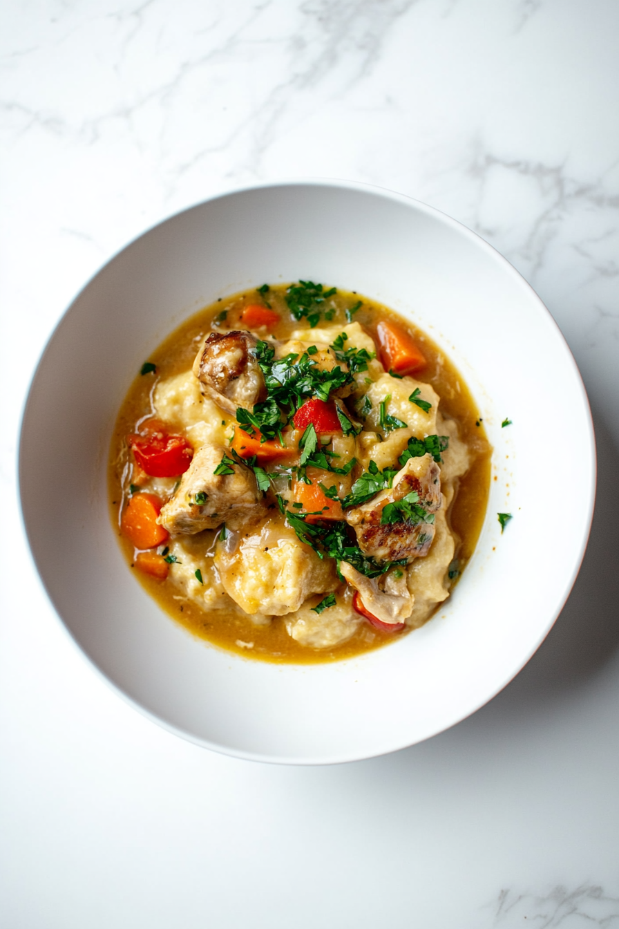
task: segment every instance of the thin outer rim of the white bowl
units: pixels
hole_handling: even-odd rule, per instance
[[[504,680],[504,682],[499,687],[494,688],[492,693],[490,693],[489,695],[486,695],[484,698],[473,701],[471,706],[467,707],[464,713],[458,714],[458,719],[455,720],[454,722],[448,723],[445,726],[442,726],[436,729],[434,732],[432,732],[431,735],[428,735],[424,737],[423,739],[416,739],[413,742],[410,742],[410,740],[404,739],[400,743],[394,744],[393,747],[386,748],[386,749],[377,748],[376,751],[364,752],[363,754],[358,754],[358,753],[351,754],[350,752],[349,753],[344,752],[342,753],[342,755],[338,755],[338,754],[331,752],[329,753],[329,757],[321,756],[321,757],[301,758],[296,755],[274,757],[272,755],[264,754],[262,752],[251,752],[251,751],[246,751],[243,749],[231,748],[229,746],[218,744],[211,739],[204,739],[196,735],[195,733],[191,733],[187,729],[174,725],[174,723],[171,723],[170,721],[163,719],[157,713],[154,713],[151,710],[149,710],[146,706],[141,704],[138,700],[136,700],[129,693],[123,690],[123,687],[121,687],[114,680],[112,680],[97,665],[97,662],[84,650],[84,648],[78,641],[76,635],[74,635],[71,632],[71,629],[69,628],[67,623],[64,622],[64,620],[62,619],[62,616],[60,615],[60,612],[58,611],[58,608],[55,605],[51,592],[49,591],[47,584],[45,583],[43,573],[39,569],[37,559],[34,556],[34,550],[32,546],[32,537],[34,533],[32,532],[32,530],[29,530],[28,528],[28,524],[26,522],[26,517],[24,513],[24,505],[23,505],[22,489],[23,489],[23,483],[24,483],[24,449],[23,449],[24,430],[25,430],[26,419],[27,419],[27,415],[29,411],[29,405],[31,403],[33,386],[35,384],[37,375],[42,367],[42,364],[45,360],[45,356],[51,346],[51,343],[57,337],[57,334],[59,333],[62,326],[65,324],[68,317],[70,316],[71,311],[74,310],[75,305],[78,303],[81,295],[84,294],[86,290],[88,290],[88,288],[97,280],[98,276],[102,274],[105,268],[108,268],[108,266],[110,266],[119,255],[122,255],[135,242],[138,242],[139,240],[142,240],[143,238],[148,236],[148,234],[150,234],[154,229],[159,229],[165,224],[167,224],[168,222],[175,221],[181,216],[184,216],[185,214],[188,214],[194,210],[200,209],[207,203],[225,201],[228,198],[234,198],[235,196],[238,196],[239,194],[249,193],[255,190],[274,190],[274,189],[293,188],[293,187],[331,188],[331,189],[336,189],[336,190],[350,190],[350,191],[356,191],[356,192],[362,192],[362,193],[374,195],[374,196],[377,196],[383,199],[391,200],[394,203],[401,203],[408,207],[413,207],[417,209],[420,213],[425,214],[426,216],[438,218],[447,227],[457,232],[458,235],[463,236],[465,239],[468,239],[477,248],[480,248],[482,251],[484,251],[486,255],[492,258],[492,260],[494,260],[496,264],[500,268],[502,268],[504,272],[507,272],[514,281],[516,281],[521,287],[523,287],[524,291],[528,294],[529,298],[532,299],[533,302],[535,303],[537,310],[538,311],[541,310],[542,315],[545,315],[547,318],[547,321],[551,322],[552,328],[554,330],[554,334],[555,336],[559,337],[559,341],[561,342],[562,347],[564,349],[566,359],[571,364],[572,373],[575,374],[574,386],[577,386],[579,390],[580,399],[583,401],[583,406],[587,413],[586,415],[586,419],[587,419],[587,463],[589,465],[589,470],[590,470],[590,481],[586,489],[587,493],[581,496],[580,498],[580,507],[586,510],[585,524],[587,525],[587,531],[584,532],[582,535],[578,550],[574,551],[573,569],[572,569],[569,579],[565,582],[565,586],[564,586],[564,589],[561,595],[558,595],[556,598],[556,608],[554,612],[552,613],[552,615],[549,616],[547,622],[543,625],[543,627],[540,627],[540,631],[537,637],[535,638],[535,642],[533,642],[530,645],[530,648],[524,653],[523,660],[519,659],[519,661],[514,666],[512,673],[509,674],[509,676]],[[581,438],[585,438],[585,437],[581,436]],[[592,519],[593,519],[593,513],[594,513],[596,484],[597,484],[595,431],[594,431],[593,419],[592,419],[592,415],[590,411],[590,405],[589,405],[588,398],[587,398],[587,390],[585,388],[582,375],[574,360],[574,355],[570,347],[567,344],[567,340],[565,339],[565,336],[561,333],[561,329],[559,328],[559,325],[554,320],[554,317],[548,310],[548,307],[546,307],[542,299],[535,292],[532,285],[524,279],[522,274],[516,268],[514,268],[513,265],[509,263],[508,259],[505,258],[504,255],[501,255],[501,253],[498,252],[497,249],[493,245],[491,245],[489,242],[486,242],[484,238],[482,238],[482,236],[480,236],[477,232],[474,232],[472,229],[460,223],[458,220],[454,219],[452,216],[448,216],[442,210],[439,210],[438,208],[428,203],[423,203],[422,201],[419,201],[416,198],[411,197],[407,194],[400,193],[395,190],[391,190],[389,188],[381,187],[380,185],[368,184],[365,182],[352,181],[352,180],[347,180],[347,179],[337,178],[337,177],[289,177],[289,178],[284,178],[280,180],[268,180],[264,182],[245,184],[240,187],[231,187],[227,190],[219,191],[213,194],[213,196],[206,197],[204,200],[201,200],[199,203],[193,203],[189,206],[183,207],[182,209],[168,216],[164,216],[162,219],[149,225],[147,229],[143,229],[141,232],[136,234],[130,241],[125,242],[120,248],[118,248],[111,255],[109,255],[100,264],[97,270],[88,278],[88,280],[84,282],[84,285],[73,295],[71,302],[68,304],[67,307],[64,308],[64,310],[62,311],[61,315],[58,318],[58,321],[56,322],[56,324],[54,325],[54,327],[48,334],[48,337],[45,340],[45,345],[41,349],[38,358],[36,359],[35,363],[32,366],[32,374],[29,379],[25,397],[24,399],[22,399],[21,411],[19,414],[19,441],[18,441],[18,447],[16,451],[16,459],[17,459],[16,461],[17,491],[18,491],[18,498],[19,498],[19,519],[20,519],[21,529],[23,530],[24,536],[28,543],[27,545],[28,554],[31,558],[32,567],[34,568],[34,573],[36,575],[37,582],[40,584],[41,588],[45,591],[46,598],[52,608],[53,613],[56,615],[57,621],[62,627],[64,634],[69,637],[72,645],[78,650],[82,659],[87,661],[87,663],[91,666],[91,668],[97,673],[97,676],[105,682],[107,687],[110,687],[126,703],[128,703],[131,707],[133,707],[143,716],[146,716],[148,720],[150,720],[152,723],[155,723],[158,726],[161,726],[163,729],[174,734],[175,736],[178,736],[182,739],[186,739],[195,745],[199,745],[201,748],[210,749],[213,752],[222,753],[222,754],[225,754],[231,757],[241,758],[247,761],[276,764],[276,765],[303,765],[303,766],[304,765],[336,765],[336,764],[343,764],[343,763],[378,757],[382,754],[387,754],[391,752],[398,752],[398,751],[401,751],[402,749],[410,747],[413,744],[418,744],[418,742],[425,741],[427,739],[432,739],[434,736],[440,735],[442,732],[445,732],[447,729],[451,728],[452,726],[457,726],[458,723],[467,719],[473,713],[476,713],[486,703],[490,702],[490,700],[494,700],[496,695],[500,693],[501,690],[503,690],[505,687],[507,687],[509,683],[514,679],[514,677],[516,677],[517,674],[519,674],[522,671],[522,668],[524,667],[524,665],[527,664],[528,661],[531,660],[532,656],[535,654],[535,651],[541,646],[541,644],[547,637],[550,629],[552,628],[554,623],[559,618],[561,614],[561,610],[565,606],[565,603],[569,595],[572,592],[572,589],[574,587],[574,582],[581,568],[583,558],[587,550],[587,543],[588,543],[588,539],[589,539],[589,535],[591,531],[591,525],[592,525]],[[581,492],[582,490],[583,489],[581,488]],[[486,512],[486,519],[487,519],[487,512]],[[220,650],[223,650],[223,649],[220,649]],[[245,659],[245,661],[250,661],[250,660]]]

